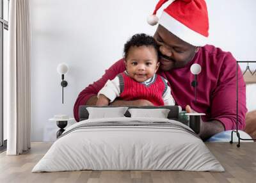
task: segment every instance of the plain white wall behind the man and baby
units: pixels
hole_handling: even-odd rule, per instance
[[[148,26],[146,18],[156,2],[31,0],[32,141],[56,138],[58,128],[48,119],[60,113],[73,116],[78,93],[122,57],[130,36],[154,34],[156,27]],[[256,60],[256,1],[208,0],[207,4],[210,43],[231,51],[237,60]],[[62,62],[70,68],[65,104],[56,72]]]

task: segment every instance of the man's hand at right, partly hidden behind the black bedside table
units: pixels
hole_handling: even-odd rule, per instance
[[[187,113],[196,113],[189,105],[186,106]],[[214,134],[217,134],[218,132],[225,131],[225,127],[223,123],[212,120],[208,122],[204,122],[202,118],[200,118],[200,133],[198,134],[200,138],[203,140],[206,140],[213,136]]]

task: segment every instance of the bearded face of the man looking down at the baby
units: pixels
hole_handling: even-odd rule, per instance
[[[198,47],[184,42],[161,25],[154,38],[159,45],[160,68],[164,71],[185,67],[198,51]]]

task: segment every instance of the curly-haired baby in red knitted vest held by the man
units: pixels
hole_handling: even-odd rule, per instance
[[[124,46],[125,72],[107,81],[98,93],[96,105],[108,106],[116,97],[122,100],[145,99],[154,106],[174,105],[167,81],[156,74],[160,64],[157,50],[152,36],[132,36]]]

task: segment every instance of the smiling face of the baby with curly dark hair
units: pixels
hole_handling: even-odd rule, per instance
[[[154,76],[159,67],[157,53],[152,46],[133,46],[125,60],[126,70],[132,79],[144,82]]]

